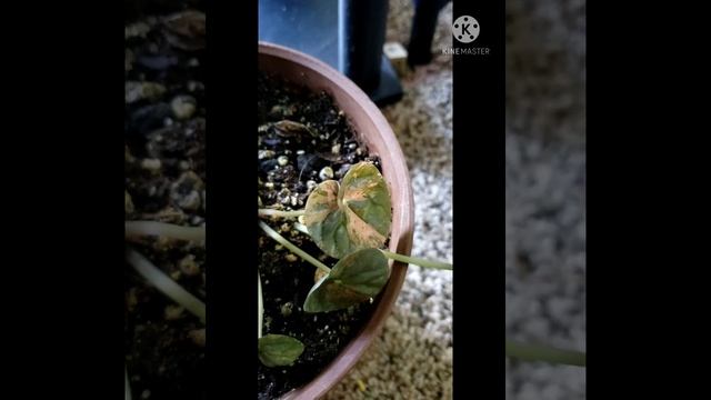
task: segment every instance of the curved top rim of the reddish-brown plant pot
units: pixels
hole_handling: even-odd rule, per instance
[[[389,181],[389,186],[393,184],[391,183],[393,181],[399,182],[398,189],[403,194],[399,202],[393,202],[393,220],[389,249],[390,251],[409,256],[412,250],[414,226],[412,184],[400,143],[380,109],[378,109],[356,83],[323,61],[303,52],[264,41],[259,41],[258,49],[260,54],[284,59],[299,68],[308,69],[310,72],[321,76],[321,78],[328,82],[328,87],[340,89],[352,102],[362,109],[368,119],[377,127],[377,131],[384,141],[388,150],[388,153],[384,154],[385,157],[383,157],[382,153],[379,154],[381,162],[387,159],[387,162],[393,166],[392,174],[394,177],[385,177],[385,180]],[[329,94],[333,96],[333,93]],[[392,192],[392,188],[390,188],[390,190]],[[391,262],[392,269],[388,284],[379,294],[379,298],[375,299],[375,309],[365,326],[312,381],[284,393],[281,398],[282,400],[311,400],[322,397],[340,382],[361,359],[365,350],[368,350],[373,340],[379,336],[404,282],[408,266],[399,261]]]

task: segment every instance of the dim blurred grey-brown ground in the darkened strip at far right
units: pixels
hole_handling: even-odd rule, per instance
[[[507,1],[507,333],[585,349],[585,2]],[[507,398],[585,398],[584,369],[509,363]]]

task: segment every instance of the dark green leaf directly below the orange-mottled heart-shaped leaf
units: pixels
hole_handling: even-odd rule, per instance
[[[358,250],[342,258],[311,288],[303,311],[334,311],[373,298],[385,286],[389,274],[388,259],[380,250]]]

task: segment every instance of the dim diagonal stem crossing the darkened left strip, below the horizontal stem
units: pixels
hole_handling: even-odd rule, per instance
[[[159,291],[168,296],[178,304],[192,312],[204,323],[206,307],[200,299],[192,296],[174,280],[170,279],[163,271],[153,266],[146,257],[136,250],[126,250],[126,260]]]

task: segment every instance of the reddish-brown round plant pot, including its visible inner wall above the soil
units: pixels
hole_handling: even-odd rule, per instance
[[[259,69],[289,82],[326,91],[349,118],[359,140],[381,159],[382,174],[392,197],[392,230],[390,251],[410,254],[414,203],[408,166],[390,124],[373,102],[343,74],[304,53],[284,47],[259,43]],[[282,399],[318,399],[338,383],[361,358],[380,332],[395,302],[408,266],[393,262],[390,281],[375,299],[375,309],[360,333],[310,383],[293,390]]]

